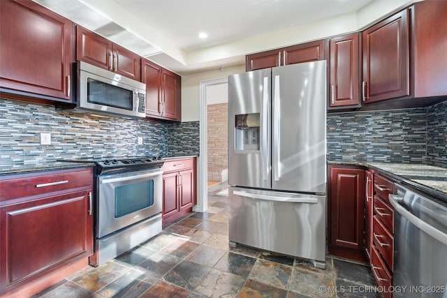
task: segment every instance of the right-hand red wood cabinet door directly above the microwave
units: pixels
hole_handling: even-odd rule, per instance
[[[140,81],[141,57],[119,45],[112,45],[113,71],[124,77]]]

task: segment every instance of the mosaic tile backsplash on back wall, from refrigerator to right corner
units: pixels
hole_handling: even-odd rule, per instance
[[[330,161],[426,161],[425,108],[328,114],[327,122]]]

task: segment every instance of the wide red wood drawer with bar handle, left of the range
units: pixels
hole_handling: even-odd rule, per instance
[[[92,169],[41,172],[0,181],[0,202],[54,191],[91,186]]]

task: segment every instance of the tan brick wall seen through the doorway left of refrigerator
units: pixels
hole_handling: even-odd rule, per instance
[[[207,106],[208,180],[225,181],[228,168],[228,103]]]

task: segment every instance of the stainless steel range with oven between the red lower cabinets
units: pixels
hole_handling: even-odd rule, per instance
[[[67,161],[67,160],[64,160]],[[163,158],[80,158],[94,167],[94,255],[101,265],[161,232]]]

